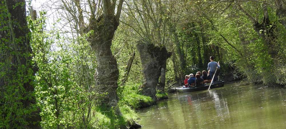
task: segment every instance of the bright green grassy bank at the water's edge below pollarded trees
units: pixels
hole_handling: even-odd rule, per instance
[[[118,128],[122,125],[128,126],[132,122],[138,122],[139,118],[136,110],[144,107],[154,105],[156,102],[151,97],[140,94],[137,84],[126,84],[120,87],[119,95],[120,101],[118,106],[122,113],[122,117],[115,115],[114,109],[108,109],[106,106],[101,105],[96,108],[95,118],[98,118],[97,128]],[[167,93],[156,93],[158,100],[168,98]]]

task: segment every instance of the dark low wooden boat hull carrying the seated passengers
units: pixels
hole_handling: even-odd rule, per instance
[[[225,84],[225,81],[215,81],[212,83],[212,85],[210,86],[210,83],[206,83],[203,85],[199,85],[197,87],[187,87],[187,88],[183,88],[183,86],[181,87],[177,87],[176,89],[179,92],[192,92],[192,91],[201,91],[201,90],[207,90],[208,87],[210,86],[210,89],[212,88],[218,88],[218,87],[223,87],[223,85]]]

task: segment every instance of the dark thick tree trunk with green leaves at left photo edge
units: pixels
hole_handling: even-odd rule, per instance
[[[4,74],[0,75],[0,110],[2,120],[8,122],[3,127],[41,128],[33,95],[37,69],[32,62],[25,0],[5,0],[0,6],[0,73]]]

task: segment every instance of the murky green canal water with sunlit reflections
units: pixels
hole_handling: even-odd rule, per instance
[[[286,128],[286,89],[239,83],[169,94],[138,111],[142,129]]]

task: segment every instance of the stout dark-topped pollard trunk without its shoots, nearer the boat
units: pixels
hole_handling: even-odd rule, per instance
[[[143,73],[146,78],[146,85],[142,86],[142,94],[150,96],[157,101],[156,86],[161,75],[162,65],[171,56],[165,47],[158,47],[154,44],[138,43],[137,49],[143,66]]]

